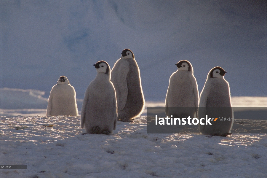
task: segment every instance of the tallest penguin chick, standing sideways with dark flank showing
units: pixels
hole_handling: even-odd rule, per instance
[[[131,50],[122,51],[121,58],[111,70],[111,82],[116,90],[118,120],[132,122],[143,112],[145,99],[139,67]]]

